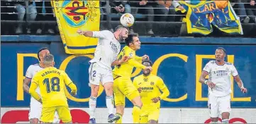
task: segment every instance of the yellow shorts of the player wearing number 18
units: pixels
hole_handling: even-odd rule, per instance
[[[40,121],[43,123],[52,123],[55,111],[57,111],[59,118],[63,123],[69,123],[72,121],[68,106],[43,107]]]

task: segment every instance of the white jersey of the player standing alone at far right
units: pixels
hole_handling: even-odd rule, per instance
[[[208,80],[216,85],[212,89],[208,87],[209,94],[224,97],[232,92],[230,75],[238,76],[238,71],[232,63],[225,62],[224,65],[218,65],[216,61],[209,61],[203,70],[208,73]]]

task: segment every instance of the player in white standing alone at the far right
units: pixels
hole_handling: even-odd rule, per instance
[[[238,75],[232,63],[224,61],[226,50],[219,47],[215,51],[216,61],[209,61],[204,67],[199,82],[208,85],[208,109],[212,123],[218,123],[218,116],[221,114],[222,123],[228,123],[230,115],[230,93],[231,80],[230,75],[240,87],[241,92],[246,93],[247,89],[243,87],[243,82]],[[205,79],[209,75],[208,80]]]

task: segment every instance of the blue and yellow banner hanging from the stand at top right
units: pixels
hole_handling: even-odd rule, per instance
[[[187,11],[185,19],[187,32],[208,35],[213,32],[211,25],[213,24],[223,32],[243,35],[240,19],[236,16],[229,1],[224,2],[228,4],[223,1],[201,1],[200,4],[191,5],[185,1],[179,1],[179,4]]]

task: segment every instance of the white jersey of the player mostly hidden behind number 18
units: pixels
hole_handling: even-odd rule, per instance
[[[26,72],[26,77],[29,78],[29,79],[32,79],[32,78],[34,77],[34,75],[35,75],[36,73],[38,73],[38,71],[43,70],[43,69],[44,69],[44,68],[41,68],[38,63],[35,64],[35,65],[30,65],[30,66],[28,67],[27,72]],[[39,87],[35,89],[35,92],[37,92],[38,94],[40,94],[40,89],[39,89]],[[31,97],[31,99],[30,99],[30,104],[31,104],[31,102],[33,102],[33,101],[37,101],[37,100],[35,100],[33,97]],[[38,102],[38,103],[39,103],[39,102]]]

